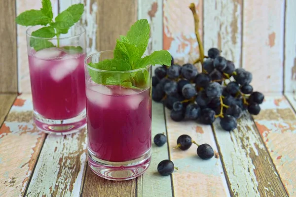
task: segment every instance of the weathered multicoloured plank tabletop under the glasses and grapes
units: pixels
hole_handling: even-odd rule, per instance
[[[296,196],[296,101],[266,96],[258,116],[244,114],[234,131],[193,121],[176,123],[160,103],[152,105],[152,135],[165,132],[167,146],[152,146],[152,162],[141,177],[121,182],[96,176],[86,161],[85,129],[47,135],[33,125],[31,95],[0,95],[0,197],[286,197]],[[8,113],[9,112],[9,113]],[[216,154],[203,161],[196,147],[173,149],[189,134]],[[160,176],[157,164],[179,167]]]

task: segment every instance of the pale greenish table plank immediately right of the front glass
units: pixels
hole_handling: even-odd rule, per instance
[[[166,132],[163,105],[152,102],[152,140],[158,133]],[[138,197],[172,197],[170,176],[160,176],[157,165],[169,159],[167,144],[157,147],[152,144],[151,164],[144,175],[138,177]]]

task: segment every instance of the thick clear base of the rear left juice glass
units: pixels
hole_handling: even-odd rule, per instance
[[[74,118],[65,120],[52,120],[44,118],[38,112],[34,111],[34,123],[37,128],[43,132],[56,135],[66,135],[79,131],[86,125],[86,110]]]

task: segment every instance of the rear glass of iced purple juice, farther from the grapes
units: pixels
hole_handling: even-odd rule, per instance
[[[38,29],[39,26],[33,26],[27,30],[34,122],[47,133],[79,131],[86,124],[85,29],[76,26],[67,37],[32,36]],[[31,47],[34,42],[41,47],[53,46],[36,50]]]

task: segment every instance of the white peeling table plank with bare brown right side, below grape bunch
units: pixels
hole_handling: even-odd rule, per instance
[[[237,125],[229,132],[222,130],[219,120],[214,122],[232,196],[287,196],[250,114],[244,113]]]

